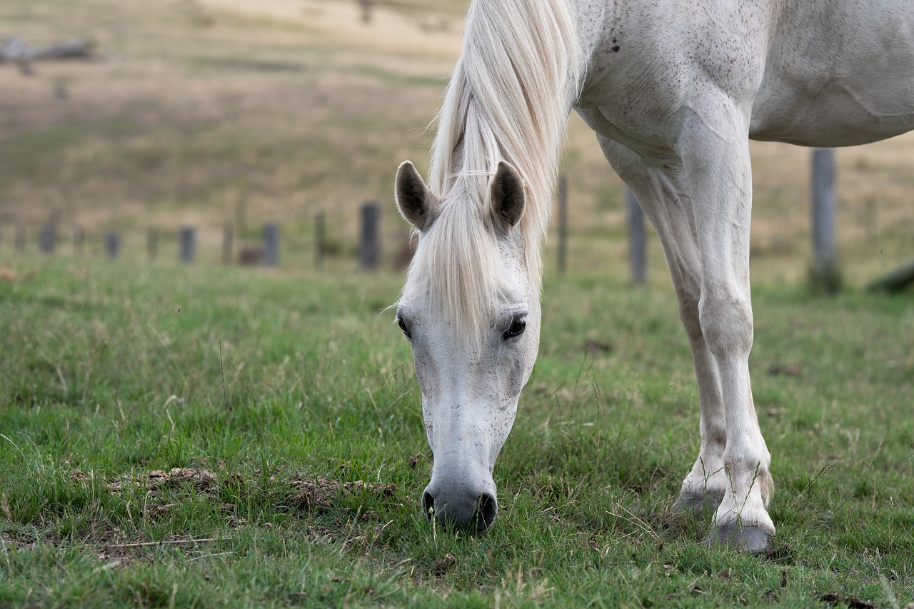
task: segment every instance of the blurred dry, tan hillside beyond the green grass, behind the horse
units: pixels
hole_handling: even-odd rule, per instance
[[[404,159],[426,169],[426,126],[465,7],[5,0],[0,254],[114,248],[161,263],[183,251],[195,264],[356,272],[363,207],[375,203],[377,269],[401,270],[409,230],[393,176]],[[760,143],[752,152],[753,282],[803,283],[811,152]],[[837,259],[845,284],[863,286],[914,256],[914,136],[838,150],[835,164]],[[627,276],[624,189],[576,115],[563,173],[569,271]],[[265,226],[275,227],[276,259]],[[648,281],[668,283],[648,230]],[[557,242],[547,273],[557,272]]]

